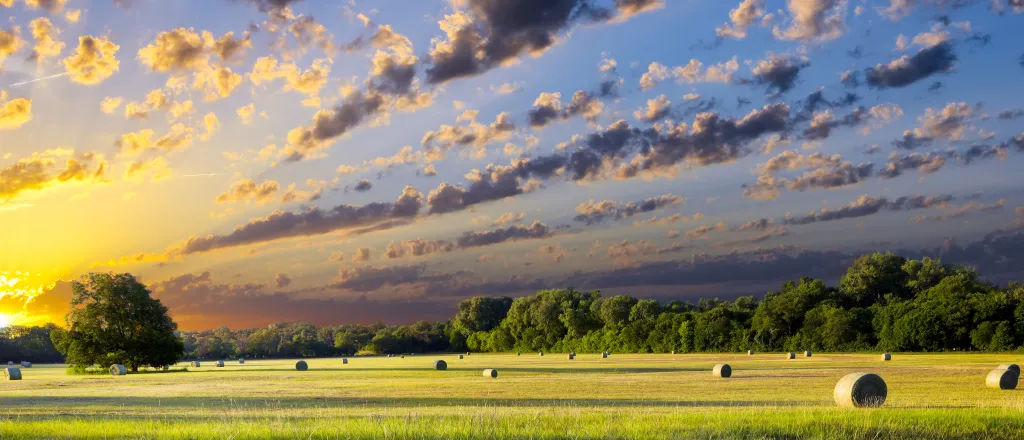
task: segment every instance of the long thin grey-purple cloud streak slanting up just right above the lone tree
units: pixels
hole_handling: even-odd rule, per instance
[[[274,239],[319,235],[350,229],[353,233],[376,230],[380,224],[416,217],[423,204],[423,194],[407,186],[394,203],[372,203],[364,206],[339,205],[330,210],[319,207],[303,212],[274,211],[239,225],[230,233],[193,236],[171,254],[189,255],[217,249],[271,241]],[[360,229],[366,228],[366,229]]]

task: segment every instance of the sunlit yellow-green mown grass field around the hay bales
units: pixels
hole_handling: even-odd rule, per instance
[[[435,359],[446,371],[432,368]],[[0,382],[0,439],[1024,438],[1024,390],[984,387],[1021,355],[537,353],[228,361],[217,368]],[[712,366],[726,362],[731,379]],[[482,377],[497,368],[498,379]],[[882,376],[879,409],[839,409],[833,388]]]

